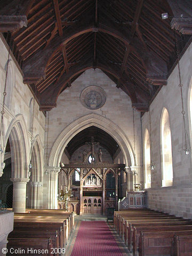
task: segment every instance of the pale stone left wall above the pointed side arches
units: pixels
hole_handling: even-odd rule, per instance
[[[8,51],[4,45],[4,39],[0,38],[1,58],[0,58],[0,95],[1,105],[3,100],[3,91],[5,86],[5,75]],[[11,123],[16,117],[22,117],[26,125],[26,132],[28,133],[28,144],[30,145],[31,133],[31,119],[33,113],[33,93],[29,90],[27,84],[23,84],[22,71],[18,69],[14,57],[10,55],[8,77],[6,84],[7,95],[5,97],[5,114],[4,114],[4,128],[6,139],[9,137]],[[32,100],[32,101],[31,101]],[[32,103],[31,103],[32,102]],[[18,118],[19,119],[19,118]],[[39,106],[35,101],[34,114],[34,137],[39,137],[42,147],[44,146],[44,129],[45,116],[42,111],[39,111]],[[22,156],[22,155],[21,155]]]

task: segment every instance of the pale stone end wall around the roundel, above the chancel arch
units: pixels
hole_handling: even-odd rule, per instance
[[[107,95],[105,105],[99,109],[87,109],[80,101],[81,92],[85,87],[90,85],[102,87]],[[129,139],[131,144],[130,150],[133,149],[133,114],[129,96],[121,89],[117,89],[116,84],[100,69],[89,69],[79,76],[69,89],[66,89],[59,95],[57,108],[50,111],[49,151],[53,147],[55,140],[69,124],[91,113],[105,117],[115,123]],[[140,113],[135,111],[135,151],[137,165],[141,163],[140,127]],[[131,165],[130,162],[129,165]]]

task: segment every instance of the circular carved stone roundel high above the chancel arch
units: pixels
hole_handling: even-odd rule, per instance
[[[89,109],[101,108],[106,102],[106,93],[96,85],[86,87],[80,96],[81,103]]]

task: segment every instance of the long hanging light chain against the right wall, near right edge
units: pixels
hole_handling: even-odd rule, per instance
[[[175,36],[175,46],[176,46],[177,63],[178,63],[178,71],[179,71],[179,87],[180,87],[181,108],[182,108],[181,114],[182,114],[182,120],[183,120],[182,149],[180,150],[180,153],[189,155],[189,153],[191,153],[191,147],[190,147],[190,141],[187,133],[186,120],[185,120],[186,112],[184,110],[183,93],[182,93],[183,84],[181,81],[181,71],[180,71],[180,65],[179,65],[179,45],[178,45],[178,40],[177,40],[175,30],[174,30],[174,36]]]

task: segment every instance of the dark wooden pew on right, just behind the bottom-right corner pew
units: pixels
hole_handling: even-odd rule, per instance
[[[174,235],[192,235],[192,229],[182,231],[141,231],[139,237],[139,256],[171,255]]]

